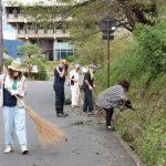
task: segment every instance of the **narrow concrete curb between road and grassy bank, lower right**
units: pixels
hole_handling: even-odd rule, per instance
[[[132,151],[132,148],[127,145],[127,143],[125,143],[117,133],[114,132],[114,135],[120,141],[121,145],[126,149],[128,155],[131,155],[133,157],[133,159],[135,160],[136,165],[137,166],[145,166],[143,164],[143,162],[137,157],[137,155]]]

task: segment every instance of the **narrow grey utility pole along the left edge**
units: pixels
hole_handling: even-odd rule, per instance
[[[3,71],[2,0],[0,0],[0,73]]]

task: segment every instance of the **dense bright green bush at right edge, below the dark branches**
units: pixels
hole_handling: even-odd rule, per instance
[[[153,76],[166,72],[166,20],[156,20],[154,27],[137,25],[135,37],[139,46],[139,56]]]

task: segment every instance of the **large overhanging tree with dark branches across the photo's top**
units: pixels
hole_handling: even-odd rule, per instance
[[[114,18],[117,27],[133,32],[136,23],[154,24],[154,17],[160,15],[165,0],[50,0],[33,7],[20,4],[24,15],[31,19],[35,27],[63,29],[71,33],[73,41],[89,39],[100,32],[98,24],[104,17]],[[56,3],[61,6],[56,6]],[[74,33],[73,33],[74,32]],[[84,42],[84,40],[83,40]]]

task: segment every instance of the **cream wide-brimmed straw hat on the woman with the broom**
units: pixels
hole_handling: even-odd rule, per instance
[[[11,65],[8,65],[8,69],[11,69],[13,71],[18,71],[18,72],[25,72],[27,69],[22,65],[21,61],[18,60],[13,60],[11,62]]]

